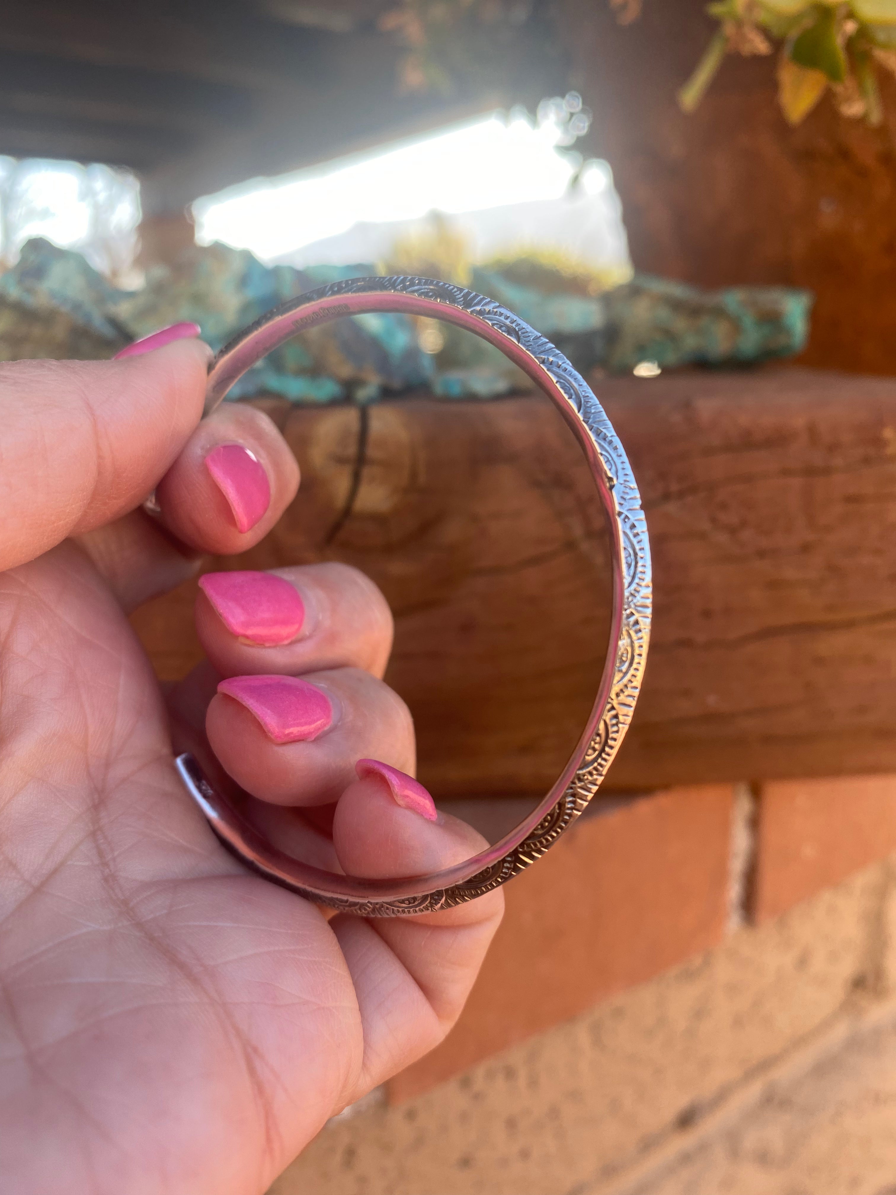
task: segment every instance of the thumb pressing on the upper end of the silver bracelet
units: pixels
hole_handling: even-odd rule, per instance
[[[152,492],[202,417],[210,351],[0,364],[0,571]]]

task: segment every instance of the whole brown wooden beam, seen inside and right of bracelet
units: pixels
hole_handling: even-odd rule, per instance
[[[599,385],[655,556],[644,692],[609,789],[896,771],[896,381],[799,369]],[[606,648],[606,533],[542,400],[269,404],[300,497],[239,564],[343,559],[395,612],[391,682],[441,796],[554,779]],[[189,587],[136,625],[165,675]]]

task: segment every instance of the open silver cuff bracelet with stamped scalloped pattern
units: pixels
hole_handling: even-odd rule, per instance
[[[495,344],[554,403],[591,467],[608,516],[613,615],[607,661],[582,737],[551,792],[489,850],[446,871],[361,880],[293,859],[254,831],[190,755],[179,774],[211,828],[248,868],[321,905],[366,917],[431,912],[473,900],[535,862],[588,807],[634,712],[650,638],[650,546],[640,497],[622,446],[600,403],[561,353],[492,299],[431,278],[366,277],[335,282],[275,308],[231,341],[209,370],[205,413],[263,356],[303,329],[370,311],[443,319]]]

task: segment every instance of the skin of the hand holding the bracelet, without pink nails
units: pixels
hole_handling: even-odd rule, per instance
[[[355,774],[363,756],[412,773],[415,750],[380,679],[388,608],[351,569],[280,570],[301,627],[266,644],[210,583],[209,662],[166,704],[128,612],[200,553],[257,543],[299,484],[260,412],[200,422],[207,363],[194,339],[0,366],[0,1185],[18,1195],[264,1191],[329,1116],[444,1037],[503,909],[498,890],[418,918],[331,917],[232,859],[183,791],[172,749],[214,752],[284,848],[307,814],[323,865],[355,875],[483,845],[430,820],[425,793],[403,805]],[[235,492],[251,466],[233,446],[266,505]],[[223,484],[222,447],[214,460],[239,466]],[[307,679],[329,724],[275,741],[216,692],[253,676]]]

